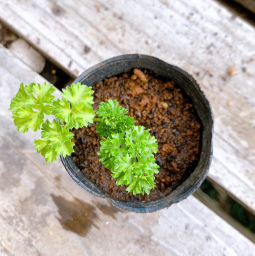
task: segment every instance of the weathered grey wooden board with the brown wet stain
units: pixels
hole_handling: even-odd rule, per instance
[[[8,110],[43,78],[0,45],[0,255],[253,255],[255,245],[195,197],[153,213],[119,210],[36,153]],[[56,91],[59,96],[59,91]]]

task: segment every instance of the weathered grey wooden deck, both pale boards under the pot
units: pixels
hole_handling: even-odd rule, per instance
[[[124,53],[193,74],[215,116],[209,179],[255,213],[254,26],[214,0],[0,0],[0,23],[73,78]],[[194,196],[126,212],[79,187],[60,159],[46,163],[36,134],[17,132],[7,110],[21,81],[43,80],[0,45],[0,255],[255,254],[253,242]]]

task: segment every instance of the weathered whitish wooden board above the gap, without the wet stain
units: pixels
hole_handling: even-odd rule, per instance
[[[209,177],[255,213],[254,27],[213,0],[0,0],[0,19],[73,76],[137,52],[193,74],[215,115]]]

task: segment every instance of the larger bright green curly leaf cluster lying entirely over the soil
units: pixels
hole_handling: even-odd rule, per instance
[[[103,137],[100,143],[100,162],[111,169],[117,185],[127,185],[126,190],[133,194],[149,194],[159,167],[153,155],[158,150],[157,142],[149,129],[134,125],[125,132]]]

